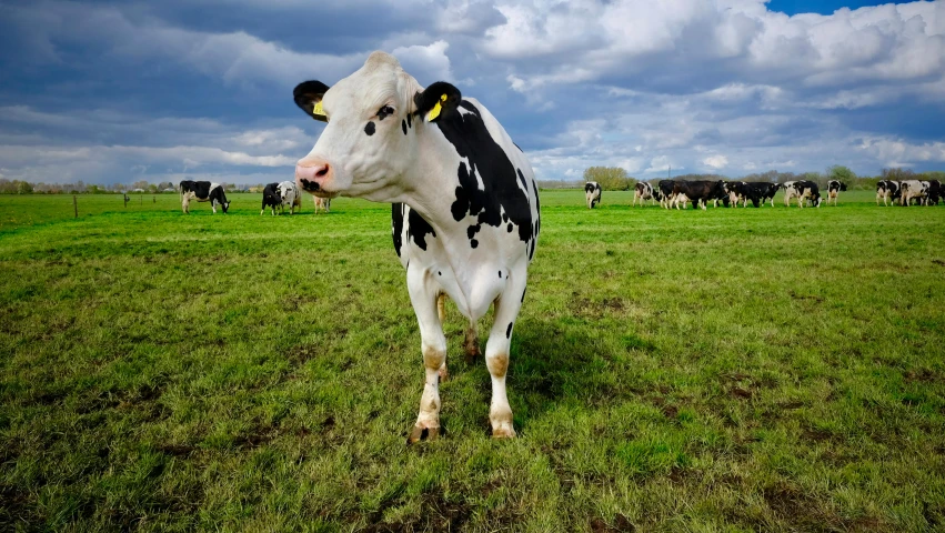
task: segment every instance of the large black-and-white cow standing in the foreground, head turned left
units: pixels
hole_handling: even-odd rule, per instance
[[[509,348],[541,231],[537,184],[524,152],[477,100],[443,81],[424,89],[384,52],[371,53],[334,87],[302,82],[293,98],[309,117],[326,122],[295,165],[299,187],[322,198],[394,204],[394,249],[406,257],[425,369],[408,443],[440,433],[443,293],[470,321],[494,304],[485,345],[489,420],[493,438],[514,438]]]

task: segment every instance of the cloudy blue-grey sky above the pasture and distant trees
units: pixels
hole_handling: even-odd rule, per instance
[[[0,178],[291,179],[292,101],[373,50],[475,97],[542,180],[945,170],[945,2],[0,0]]]

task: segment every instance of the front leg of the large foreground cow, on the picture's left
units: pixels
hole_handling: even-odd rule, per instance
[[[420,325],[420,348],[425,373],[420,413],[408,436],[408,443],[412,443],[424,436],[432,440],[440,435],[440,368],[446,361],[446,338],[436,314],[440,290],[429,272],[420,268],[408,268],[406,286]]]

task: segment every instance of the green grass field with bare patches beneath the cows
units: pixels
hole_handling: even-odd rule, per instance
[[[0,197],[0,531],[945,531],[945,208],[542,193],[520,438],[390,208]],[[483,322],[482,325],[484,325]]]

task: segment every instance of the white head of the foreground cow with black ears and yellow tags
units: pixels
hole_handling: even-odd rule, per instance
[[[422,90],[393,56],[374,52],[331,88],[300,83],[294,99],[306,114],[328,122],[295,165],[299,188],[322,198],[383,200],[392,181],[415,163],[419,122],[455,112],[462,97],[444,82]]]

